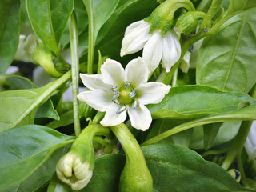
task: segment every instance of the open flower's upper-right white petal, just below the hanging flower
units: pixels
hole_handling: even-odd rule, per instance
[[[146,66],[146,62],[142,58],[135,58],[127,64],[125,74],[126,81],[136,87],[142,82],[147,82],[149,70]]]

